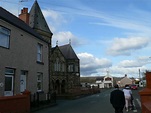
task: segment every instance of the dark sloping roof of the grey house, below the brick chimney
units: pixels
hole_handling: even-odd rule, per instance
[[[30,26],[28,26],[24,21],[16,17],[15,15],[11,14],[7,10],[0,7],[0,19],[22,29],[25,32],[28,32],[29,34],[43,40],[43,38],[35,32]],[[44,40],[43,40],[44,41]]]

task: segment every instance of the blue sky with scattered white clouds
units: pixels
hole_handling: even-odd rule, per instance
[[[150,0],[37,0],[53,33],[52,46],[69,44],[81,76],[139,78],[151,70]],[[0,0],[18,16],[34,0]]]

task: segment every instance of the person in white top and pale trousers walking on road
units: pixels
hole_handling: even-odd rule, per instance
[[[131,96],[132,96],[132,91],[129,87],[129,85],[125,85],[125,88],[123,89],[124,95],[125,95],[125,109],[128,112],[129,106],[131,107]]]

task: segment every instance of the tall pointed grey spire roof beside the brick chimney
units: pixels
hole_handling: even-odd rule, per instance
[[[37,0],[35,0],[29,14],[30,14],[29,26],[31,28],[52,34],[43,16],[43,13],[39,7]]]

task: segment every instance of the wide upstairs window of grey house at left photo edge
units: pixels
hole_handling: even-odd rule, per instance
[[[0,46],[9,48],[10,30],[0,26]]]

